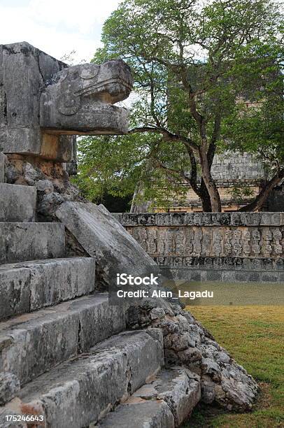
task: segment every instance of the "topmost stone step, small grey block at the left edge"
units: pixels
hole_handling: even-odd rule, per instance
[[[0,183],[0,222],[34,222],[36,187]]]

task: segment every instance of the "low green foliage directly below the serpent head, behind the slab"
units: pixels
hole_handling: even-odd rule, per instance
[[[183,199],[186,187],[180,185],[178,173],[169,173],[160,164],[190,169],[182,144],[171,150],[156,135],[98,136],[78,141],[79,173],[75,183],[83,195],[98,203],[108,193],[127,197],[134,193],[137,183],[143,183],[137,202],[157,201],[169,206],[173,197]]]

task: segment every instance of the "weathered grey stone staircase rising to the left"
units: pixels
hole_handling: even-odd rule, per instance
[[[163,369],[162,331],[125,331],[94,257],[66,257],[64,225],[35,220],[36,189],[0,183],[0,427],[180,425],[198,376]]]

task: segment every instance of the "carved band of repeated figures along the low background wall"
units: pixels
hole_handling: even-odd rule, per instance
[[[283,257],[283,227],[125,224],[152,257]],[[180,263],[180,261],[178,261]]]

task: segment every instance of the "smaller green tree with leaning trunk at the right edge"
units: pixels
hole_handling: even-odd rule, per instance
[[[260,194],[239,211],[260,211],[271,190],[284,179],[283,52],[283,43],[271,41],[255,49],[256,60],[253,64],[247,62],[243,70],[242,87],[246,97],[234,106],[232,115],[225,121],[224,134],[229,147],[256,154],[270,169]],[[261,61],[261,73],[255,73],[258,61]],[[256,78],[259,90],[251,94]],[[244,98],[252,100],[253,106]]]

